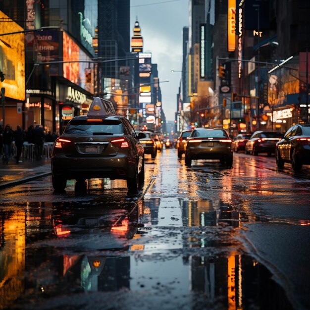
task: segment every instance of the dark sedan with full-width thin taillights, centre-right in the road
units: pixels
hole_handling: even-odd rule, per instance
[[[196,128],[185,145],[185,165],[190,166],[192,159],[219,159],[232,166],[232,140],[223,129]]]

